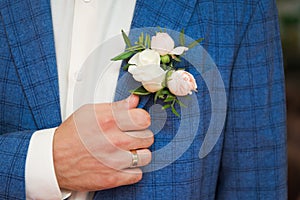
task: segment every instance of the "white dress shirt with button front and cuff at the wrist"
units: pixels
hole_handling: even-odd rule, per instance
[[[129,30],[135,0],[51,0],[64,121],[86,103],[112,102],[124,51],[121,29]],[[55,128],[33,134],[26,160],[27,199],[62,199],[52,156]],[[87,199],[72,192],[71,199]]]

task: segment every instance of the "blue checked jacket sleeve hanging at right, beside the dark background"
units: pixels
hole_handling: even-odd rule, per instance
[[[218,199],[286,199],[286,119],[275,0],[259,0],[234,62]]]

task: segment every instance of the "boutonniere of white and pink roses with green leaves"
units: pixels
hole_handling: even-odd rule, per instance
[[[136,95],[154,94],[154,101],[163,100],[163,109],[171,108],[172,112],[179,116],[175,104],[183,107],[185,105],[177,97],[197,92],[197,83],[192,74],[178,69],[176,65],[181,62],[180,57],[196,46],[202,38],[185,47],[182,31],[179,38],[181,46],[175,47],[174,40],[163,31],[157,32],[152,38],[142,32],[134,45],[123,30],[122,36],[127,48],[111,60],[124,60],[126,65],[123,70],[128,71],[142,84],[130,92]]]

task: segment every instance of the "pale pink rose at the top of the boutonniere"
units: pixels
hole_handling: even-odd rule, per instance
[[[157,51],[161,56],[164,55],[181,55],[187,51],[187,47],[175,47],[174,40],[167,33],[157,33],[151,39],[151,49]]]

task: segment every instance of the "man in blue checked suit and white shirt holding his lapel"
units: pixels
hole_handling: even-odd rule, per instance
[[[136,3],[127,1],[128,5],[123,6],[121,1],[103,1],[102,5],[76,0],[68,1],[70,8],[66,2],[65,7],[64,3],[55,7],[58,2],[51,1],[51,5],[47,0],[0,3],[1,198],[24,199],[27,195],[33,199],[57,199],[60,190],[100,190],[93,195],[95,199],[286,198],[285,101],[275,1],[137,0]],[[131,29],[160,26],[174,31],[184,29],[194,39],[205,39],[202,45],[220,71],[227,100],[225,126],[207,156],[199,158],[199,150],[215,111],[210,109],[205,82],[191,66],[187,69],[198,81],[197,106],[203,114],[196,112],[176,118],[168,112],[166,123],[157,129],[159,133],[151,151],[158,152],[167,146],[183,121],[189,121],[190,126],[184,127],[187,138],[181,140],[196,135],[178,159],[161,169],[148,168],[137,184],[133,183],[142,176],[138,167],[149,163],[148,147],[153,142],[152,133],[147,130],[150,116],[136,108],[138,98],[131,96],[113,104],[78,106],[75,111],[77,106],[73,107],[72,100],[75,86],[68,75],[84,65],[86,53],[92,49],[82,50],[85,47],[81,45],[88,34],[105,32],[110,36],[106,28],[113,29],[109,24],[99,24],[102,28],[99,31],[90,22],[94,19],[92,11],[84,12],[91,17],[84,20],[81,9],[83,4],[90,3],[98,5],[93,7],[99,9],[95,15],[107,14],[98,18],[100,21],[115,23],[118,20],[114,18],[124,19],[116,25],[117,29],[124,26],[127,30],[130,24]],[[117,13],[123,13],[117,7],[126,14],[116,17]],[[110,8],[114,8],[112,13],[108,12]],[[58,17],[64,14],[65,17]],[[68,22],[69,18],[74,21]],[[57,19],[66,24],[60,24]],[[82,27],[86,23],[90,25]],[[70,24],[74,27],[70,28]],[[72,31],[68,35],[63,28]],[[105,39],[91,36],[91,41]],[[64,43],[67,41],[71,44]],[[112,77],[116,76],[112,73]],[[114,90],[110,84],[102,87]],[[124,83],[118,85],[115,99],[123,99],[122,92],[128,89],[132,88]],[[159,120],[157,112],[149,109],[153,105],[151,99],[143,99],[140,106],[151,113],[152,121]],[[199,122],[195,121],[197,118]],[[192,131],[194,127],[197,131]],[[48,151],[38,155],[39,149],[45,147]],[[176,154],[179,147],[171,149],[169,154]],[[53,163],[49,159],[52,152]],[[46,165],[37,162],[44,157]],[[159,164],[156,157],[153,163]],[[44,170],[55,170],[55,173],[45,178]],[[40,187],[45,182],[49,188]],[[133,185],[118,187],[128,184]],[[104,190],[108,188],[113,189]],[[76,192],[71,195],[80,198],[80,193],[78,197]]]

